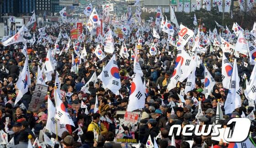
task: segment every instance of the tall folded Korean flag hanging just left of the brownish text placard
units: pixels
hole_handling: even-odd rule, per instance
[[[22,69],[22,72],[19,76],[18,81],[16,82],[17,88],[19,90],[18,95],[15,100],[15,104],[21,100],[22,96],[25,95],[28,91],[28,86],[31,85],[31,78],[30,78],[30,72],[28,67],[28,59],[26,58],[24,67]]]

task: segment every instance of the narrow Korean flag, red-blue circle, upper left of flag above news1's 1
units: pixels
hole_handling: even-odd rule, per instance
[[[227,59],[225,54],[223,54],[221,73],[222,73],[222,84],[225,89],[229,89],[232,71],[233,71],[233,66],[231,65],[231,63],[229,63],[229,60]]]

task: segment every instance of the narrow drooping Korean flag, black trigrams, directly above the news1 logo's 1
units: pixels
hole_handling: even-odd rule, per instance
[[[229,93],[225,101],[224,109],[225,114],[232,113],[236,108],[241,107],[241,97],[240,97],[240,78],[237,71],[236,59],[233,65],[232,77],[229,85]]]

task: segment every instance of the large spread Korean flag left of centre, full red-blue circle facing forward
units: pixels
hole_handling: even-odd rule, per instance
[[[116,93],[121,88],[121,80],[115,54],[113,54],[113,57],[107,63],[107,66],[102,69],[98,79],[100,79],[103,85],[113,93]]]

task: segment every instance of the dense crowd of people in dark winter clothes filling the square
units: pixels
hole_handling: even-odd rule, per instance
[[[148,22],[143,22],[142,26],[149,26]],[[69,35],[73,25],[70,23],[57,23],[45,27],[45,34],[51,37],[58,37],[59,32],[67,33]],[[107,32],[107,27],[103,28],[103,33]],[[110,29],[113,27],[110,25]],[[132,30],[132,29],[131,29]],[[34,31],[36,40],[38,41],[39,32]],[[41,96],[44,98],[43,104],[36,112],[29,111],[29,105],[32,100],[33,91],[37,84],[38,66],[42,69],[43,63],[47,60],[47,51],[54,47],[53,42],[46,39],[40,40],[31,45],[27,43],[28,64],[30,70],[31,85],[28,92],[22,96],[21,100],[15,105],[15,99],[18,94],[17,80],[21,73],[26,57],[21,52],[24,47],[23,43],[16,43],[10,46],[1,46],[0,53],[0,119],[1,129],[8,134],[8,142],[14,137],[14,146],[12,148],[27,148],[28,143],[36,141],[35,148],[45,146],[54,148],[145,148],[148,143],[149,136],[151,142],[156,143],[159,148],[190,148],[188,142],[193,140],[193,148],[230,148],[229,143],[223,140],[212,140],[211,136],[196,136],[193,132],[192,136],[169,135],[170,128],[173,125],[181,125],[182,128],[186,125],[212,125],[220,124],[222,127],[232,127],[227,125],[232,118],[243,117],[249,115],[251,112],[255,113],[255,106],[249,105],[249,99],[241,93],[242,106],[235,109],[231,114],[225,115],[224,103],[229,93],[228,89],[224,89],[222,84],[222,56],[225,54],[230,63],[233,63],[235,56],[232,53],[223,53],[221,49],[213,51],[210,46],[205,45],[207,49],[205,53],[198,53],[197,55],[202,60],[202,63],[196,69],[196,83],[194,89],[184,93],[186,80],[178,82],[176,87],[170,91],[167,85],[174,73],[176,67],[176,47],[169,44],[166,46],[165,42],[169,42],[166,33],[160,32],[160,39],[152,37],[152,27],[150,32],[141,32],[143,38],[142,48],[139,49],[138,60],[143,71],[143,79],[146,82],[146,99],[144,108],[136,110],[139,112],[139,119],[133,126],[120,124],[117,119],[117,111],[126,111],[129,103],[129,94],[131,92],[131,83],[133,80],[133,60],[131,58],[131,51],[135,49],[136,30],[126,36],[125,42],[127,45],[129,57],[122,58],[119,56],[119,51],[124,42],[119,37],[114,37],[116,61],[119,69],[120,79],[122,83],[121,89],[118,93],[112,93],[111,90],[103,88],[102,82],[98,79],[97,82],[90,82],[88,91],[81,91],[82,87],[91,79],[92,75],[96,73],[98,76],[112,54],[105,53],[106,57],[99,60],[96,57],[94,50],[100,44],[103,46],[96,35],[91,35],[84,26],[83,33],[85,38],[81,43],[80,49],[85,48],[86,57],[82,58],[78,65],[78,73],[71,72],[72,67],[72,53],[74,53],[73,44],[67,52],[55,54],[56,69],[59,73],[59,80],[61,83],[60,90],[64,92],[62,101],[64,108],[67,109],[69,116],[75,124],[74,126],[65,125],[65,131],[59,134],[54,134],[45,128],[48,122],[48,103],[51,100],[54,104],[54,85],[55,72],[52,74],[52,79],[46,82],[48,85],[48,95]],[[175,34],[178,33],[178,30]],[[196,34],[196,33],[195,33]],[[62,49],[67,38],[61,38],[59,41],[59,48]],[[75,41],[72,41],[75,42]],[[156,55],[150,55],[149,44],[145,42],[155,42],[156,48],[159,52]],[[63,44],[62,44],[63,43]],[[192,47],[185,46],[185,50],[191,50]],[[75,54],[75,58],[77,55]],[[240,76],[240,86],[245,88],[246,79],[251,77],[253,65],[244,65],[250,63],[248,57],[240,54],[240,58],[236,58],[238,74]],[[208,97],[205,97],[204,92],[204,70],[206,66],[208,71],[216,81],[213,90]],[[246,74],[246,77],[243,77]],[[181,102],[180,95],[183,96],[185,102]],[[99,102],[99,111],[94,112],[96,99]],[[198,112],[198,102],[202,108],[203,116],[196,118]],[[217,106],[220,105],[223,111],[223,118],[216,122]],[[84,107],[84,105],[86,105]],[[102,118],[103,117],[103,118]],[[6,123],[6,119],[8,119]],[[107,119],[107,120],[104,120]],[[122,128],[120,128],[122,127]],[[77,130],[79,129],[79,130]],[[118,131],[119,129],[119,131]],[[120,131],[122,129],[122,131]],[[201,130],[201,128],[200,128]],[[41,132],[43,131],[43,132]],[[98,134],[95,139],[95,132]],[[177,131],[175,130],[174,133]],[[53,139],[53,145],[49,145],[46,137]],[[251,121],[250,127],[250,142],[256,142],[256,122]],[[29,136],[31,135],[31,136]],[[57,135],[57,136],[56,136]],[[160,135],[160,136],[159,136]],[[41,136],[41,137],[40,137]],[[135,140],[139,145],[130,143],[117,142],[117,136],[123,139],[138,139]],[[30,140],[29,140],[30,139]],[[40,140],[41,139],[41,140]],[[173,141],[175,139],[175,141]],[[37,143],[37,140],[39,142]],[[122,141],[121,141],[122,142]],[[174,145],[175,143],[175,145]],[[149,144],[150,145],[150,144]],[[256,146],[256,145],[254,145]],[[233,148],[233,147],[232,147]]]

